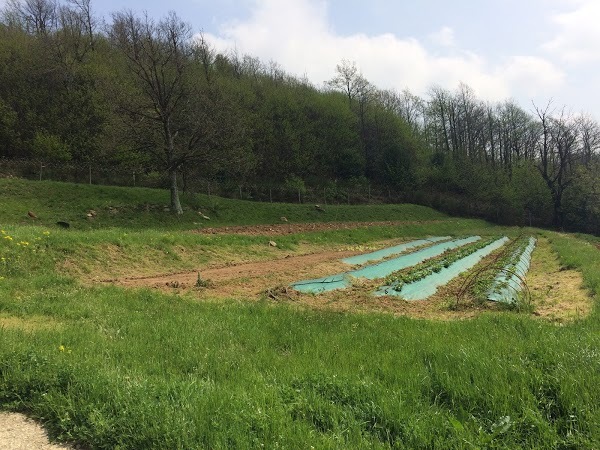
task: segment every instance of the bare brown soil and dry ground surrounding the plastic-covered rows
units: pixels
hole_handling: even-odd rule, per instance
[[[386,242],[385,245],[391,245]],[[377,245],[375,247],[380,247]],[[581,288],[581,275],[561,270],[548,242],[540,239],[533,254],[527,278],[534,301],[534,314],[557,322],[586,315],[592,300]],[[187,294],[200,301],[241,298],[249,301],[270,299],[274,302],[337,311],[380,311],[415,318],[454,320],[474,317],[484,311],[501,308],[492,302],[475,302],[457,295],[464,276],[440,288],[427,301],[405,301],[397,297],[373,297],[377,281],[356,280],[345,290],[318,295],[301,294],[289,287],[295,281],[341,273],[351,266],[342,258],[361,253],[359,249],[327,250],[311,254],[287,254],[284,258],[262,262],[229,264],[223,267],[200,267],[198,270],[151,277],[128,277],[109,280],[126,287],[151,287],[165,292]],[[364,251],[364,250],[363,250]],[[491,263],[495,255],[482,264]],[[197,286],[200,276],[202,287]]]

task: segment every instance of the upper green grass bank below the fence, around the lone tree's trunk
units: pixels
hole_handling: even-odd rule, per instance
[[[3,193],[0,223],[31,223],[27,213],[32,211],[38,216],[37,224],[55,228],[57,221],[64,221],[82,230],[111,227],[184,230],[270,224],[281,223],[282,216],[290,222],[448,219],[442,213],[417,205],[322,205],[325,212],[320,212],[314,205],[257,203],[202,194],[182,194],[184,214],[176,216],[164,211],[169,205],[167,190],[20,179],[0,178],[0,192]],[[91,220],[87,218],[90,210],[97,213]],[[198,211],[210,220],[202,219]]]

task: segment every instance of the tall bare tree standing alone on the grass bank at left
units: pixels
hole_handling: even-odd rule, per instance
[[[136,133],[140,145],[167,170],[171,208],[182,214],[177,170],[194,153],[180,136],[189,127],[191,28],[175,13],[155,23],[147,15],[140,19],[123,12],[113,16],[110,38],[125,55],[139,94],[137,103],[121,106],[142,133]]]

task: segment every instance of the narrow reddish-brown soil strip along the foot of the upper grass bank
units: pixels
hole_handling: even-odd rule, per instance
[[[281,223],[271,225],[242,225],[232,227],[201,228],[193,233],[202,234],[243,234],[247,236],[282,236],[286,234],[327,230],[353,230],[365,227],[386,227],[398,225],[418,225],[442,222],[442,220],[413,220],[386,222],[316,222],[316,223]]]

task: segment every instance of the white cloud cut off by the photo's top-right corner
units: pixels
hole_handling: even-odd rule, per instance
[[[600,60],[600,2],[577,0],[570,3],[574,9],[552,17],[559,32],[543,48],[565,62],[597,62]]]

